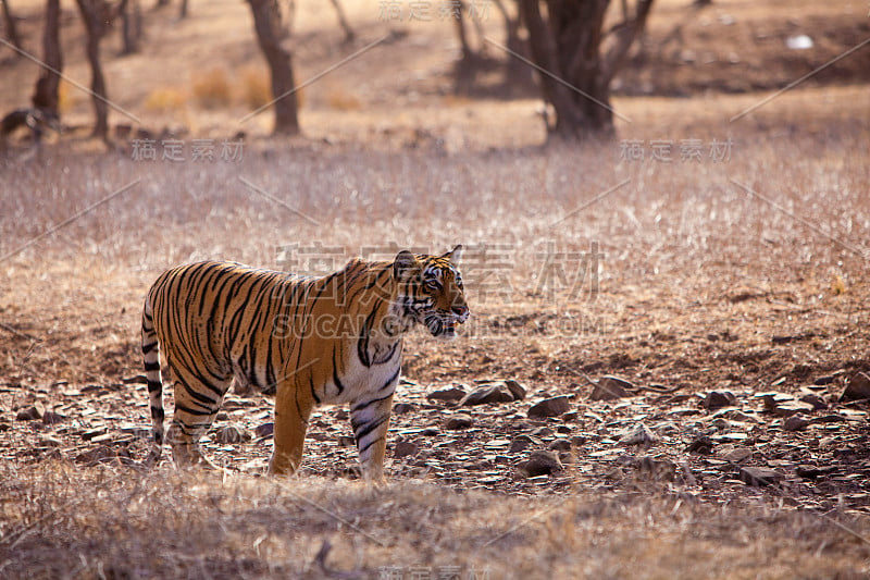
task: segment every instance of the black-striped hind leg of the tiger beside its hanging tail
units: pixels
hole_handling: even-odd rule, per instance
[[[186,373],[177,373],[186,374]],[[175,412],[166,431],[166,441],[172,448],[176,467],[199,466],[219,469],[202,455],[199,439],[209,430],[221,407],[221,402],[231,381],[208,384],[185,377],[175,383]]]

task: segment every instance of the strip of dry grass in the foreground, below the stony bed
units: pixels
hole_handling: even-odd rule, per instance
[[[830,519],[766,502],[523,499],[61,461],[4,466],[0,481],[7,578],[858,578],[868,556]]]

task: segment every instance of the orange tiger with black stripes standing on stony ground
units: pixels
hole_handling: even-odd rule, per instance
[[[269,474],[296,472],[315,406],[349,404],[361,476],[383,481],[403,336],[423,325],[451,340],[470,317],[461,252],[355,258],[324,276],[225,261],[165,271],[142,308],[153,436],[145,465],[158,462],[164,444],[162,356],[175,399],[165,440],[177,467],[216,468],[199,440],[235,381],[275,396]]]

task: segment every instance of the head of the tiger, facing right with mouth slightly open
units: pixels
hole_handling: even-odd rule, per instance
[[[398,281],[397,303],[403,314],[425,324],[433,336],[455,338],[456,325],[469,319],[458,263],[462,246],[442,256],[402,250],[393,263]]]

